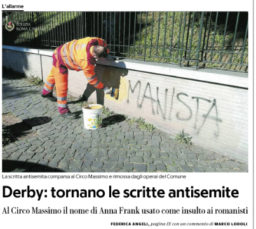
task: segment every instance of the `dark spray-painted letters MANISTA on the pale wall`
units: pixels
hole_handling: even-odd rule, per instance
[[[217,127],[216,130],[214,130],[214,135],[216,138],[219,136],[219,123],[221,123],[222,120],[219,118],[216,99],[210,100],[203,97],[190,97],[184,92],[175,92],[175,87],[170,91],[165,89],[164,99],[162,94],[161,99],[159,99],[159,87],[156,87],[156,94],[153,94],[149,83],[142,88],[140,80],[138,80],[133,86],[129,80],[127,102],[130,102],[130,93],[133,94],[135,91],[136,94],[138,94],[138,108],[142,108],[144,101],[149,101],[151,104],[152,114],[160,114],[164,120],[172,121],[172,118],[175,117],[180,121],[194,121],[194,129],[198,135],[205,126],[206,120],[213,120]],[[163,89],[161,89],[161,92],[163,92]],[[189,102],[187,102],[188,99]],[[196,105],[196,111],[195,109],[193,111],[191,104],[194,106]],[[201,111],[202,105],[206,108],[206,111],[204,112]],[[176,109],[174,113],[174,106],[177,106],[177,108],[179,108],[180,111],[182,110],[182,112],[179,110],[177,111]],[[201,121],[198,121],[199,118]]]

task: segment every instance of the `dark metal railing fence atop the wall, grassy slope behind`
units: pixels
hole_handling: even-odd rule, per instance
[[[100,37],[121,58],[248,71],[247,12],[3,12],[2,22],[8,45],[55,49]]]

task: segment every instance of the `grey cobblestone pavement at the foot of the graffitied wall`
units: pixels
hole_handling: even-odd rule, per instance
[[[104,115],[103,127],[86,130],[79,104],[76,120],[58,114],[57,102],[40,96],[42,87],[3,78],[3,110],[36,133],[3,147],[3,171],[69,172],[247,172],[248,164],[198,145],[179,144],[161,130],[147,132],[120,116]],[[115,118],[116,117],[116,118]]]

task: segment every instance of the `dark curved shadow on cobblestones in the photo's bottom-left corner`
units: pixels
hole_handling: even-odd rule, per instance
[[[24,161],[11,161],[3,160],[2,161],[2,171],[3,172],[13,172],[13,173],[26,173],[26,172],[64,172],[57,168],[51,168],[49,166],[44,166],[43,164],[36,164]]]

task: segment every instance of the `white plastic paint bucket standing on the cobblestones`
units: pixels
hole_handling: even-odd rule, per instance
[[[102,111],[103,106],[100,104],[88,104],[86,107],[93,108],[93,106],[99,106],[98,109],[86,109],[83,108],[84,116],[84,128],[88,130],[97,130],[102,127]]]

